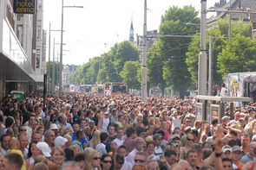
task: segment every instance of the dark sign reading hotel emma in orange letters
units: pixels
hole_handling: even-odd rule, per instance
[[[35,14],[35,0],[14,0],[13,9],[17,14]]]

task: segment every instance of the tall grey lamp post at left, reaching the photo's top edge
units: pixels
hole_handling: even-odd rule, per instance
[[[62,50],[63,50],[63,0],[62,0],[62,33],[61,33],[61,54],[60,54],[60,76],[59,76],[59,94],[62,94]]]

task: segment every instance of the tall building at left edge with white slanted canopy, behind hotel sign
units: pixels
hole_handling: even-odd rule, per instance
[[[46,73],[43,0],[32,2],[35,6],[30,11],[35,14],[22,14],[15,13],[13,0],[0,0],[0,98],[10,91],[42,88]]]

